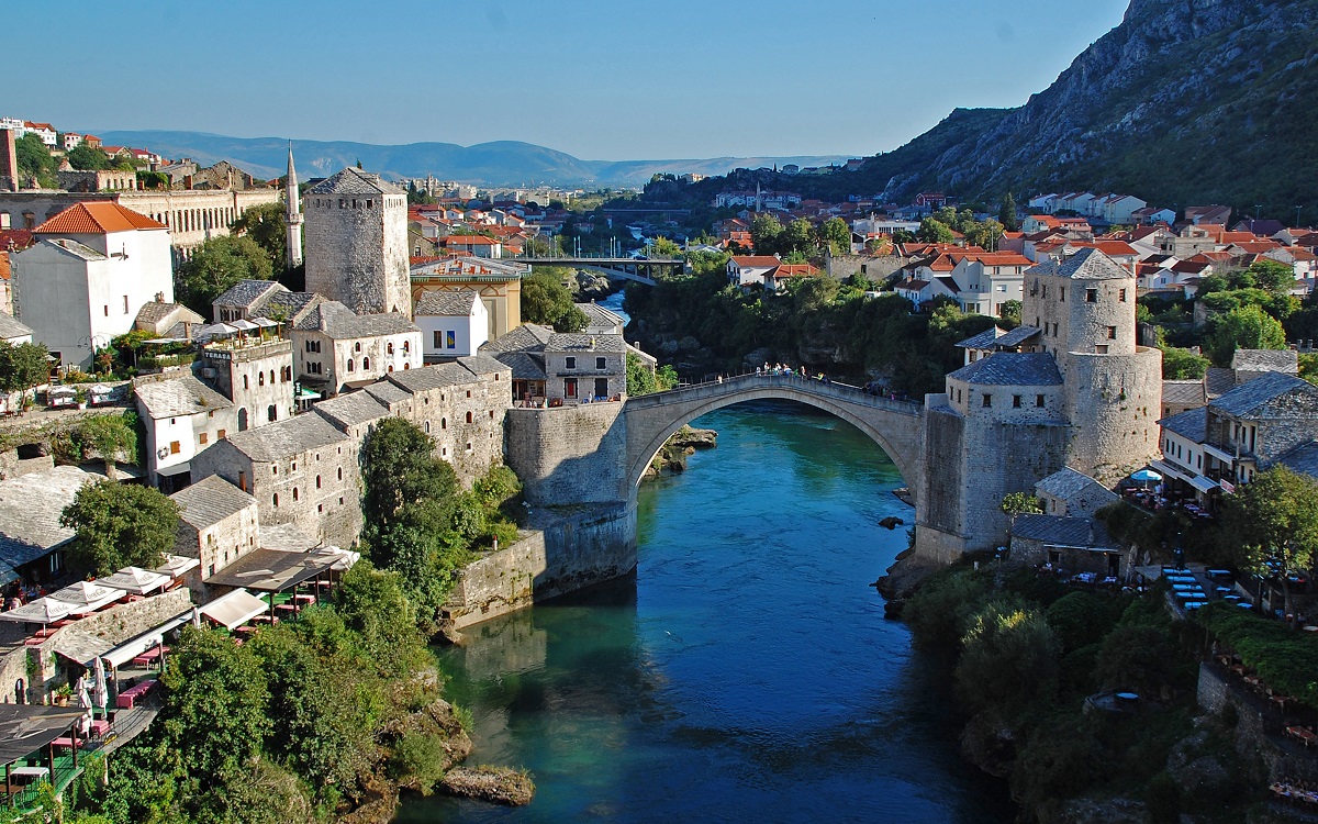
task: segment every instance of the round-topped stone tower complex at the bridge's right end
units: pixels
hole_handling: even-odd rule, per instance
[[[1135,276],[1097,249],[1025,273],[1021,319],[960,345],[925,396],[916,555],[946,563],[1006,542],[1010,492],[1064,465],[1104,485],[1157,452],[1162,353],[1135,343]]]

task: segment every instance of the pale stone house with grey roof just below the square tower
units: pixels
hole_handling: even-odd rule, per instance
[[[335,396],[423,363],[420,330],[397,312],[356,315],[326,301],[293,327],[298,381]]]

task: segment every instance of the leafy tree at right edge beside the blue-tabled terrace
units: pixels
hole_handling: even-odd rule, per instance
[[[1310,570],[1318,551],[1318,481],[1282,464],[1260,472],[1230,498],[1226,526],[1238,566],[1275,575],[1286,614],[1294,614],[1289,577]]]

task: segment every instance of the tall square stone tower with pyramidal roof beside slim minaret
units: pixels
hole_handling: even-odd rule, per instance
[[[307,291],[357,314],[411,316],[407,195],[380,175],[344,169],[307,190]]]

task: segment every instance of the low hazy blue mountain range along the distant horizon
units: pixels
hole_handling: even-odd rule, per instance
[[[285,171],[289,141],[278,137],[225,137],[203,132],[98,132],[111,145],[149,148],[166,157],[190,157],[204,165],[227,160],[264,178]],[[420,142],[380,146],[344,141],[294,140],[294,160],[302,178],[330,175],[361,161],[365,169],[389,178],[415,178],[432,174],[442,181],[482,186],[613,185],[641,186],[655,173],[688,171],[717,175],[738,166],[828,166],[845,162],[842,156],[825,157],[720,157],[712,160],[667,161],[583,161],[563,152],[518,141],[497,141],[459,146]]]

